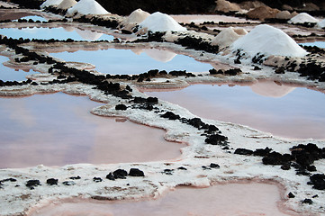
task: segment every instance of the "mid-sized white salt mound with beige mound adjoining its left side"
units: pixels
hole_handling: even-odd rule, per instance
[[[170,15],[156,12],[150,14],[147,19],[139,24],[148,31],[186,31],[184,27],[178,24]]]

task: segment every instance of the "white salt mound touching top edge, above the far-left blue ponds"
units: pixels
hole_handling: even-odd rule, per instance
[[[95,14],[95,15],[103,15],[110,14],[107,12],[101,4],[98,4],[95,0],[81,0],[73,7],[68,9],[68,14]]]

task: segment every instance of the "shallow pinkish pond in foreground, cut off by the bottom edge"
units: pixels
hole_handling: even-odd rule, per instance
[[[30,216],[72,215],[293,215],[284,211],[280,190],[275,184],[232,183],[209,188],[178,187],[162,197],[145,201],[95,202],[89,200],[56,201]],[[297,215],[297,214],[294,214]]]

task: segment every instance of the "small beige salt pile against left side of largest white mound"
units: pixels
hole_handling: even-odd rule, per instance
[[[222,30],[213,40],[212,45],[228,47],[241,36],[246,35],[248,31],[244,29],[234,29],[232,27]]]

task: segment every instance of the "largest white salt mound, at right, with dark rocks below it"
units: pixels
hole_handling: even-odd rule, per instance
[[[243,49],[250,57],[254,57],[257,53],[288,57],[303,57],[307,54],[306,50],[284,31],[266,24],[257,25],[247,35],[236,40],[231,49]]]

